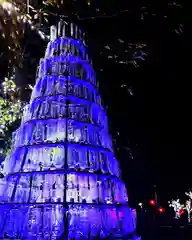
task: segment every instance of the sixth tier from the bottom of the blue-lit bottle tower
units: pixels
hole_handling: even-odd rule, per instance
[[[98,90],[90,83],[72,76],[45,76],[39,79],[31,96],[31,103],[33,100],[39,98],[46,99],[51,96],[62,96],[61,99],[78,102],[79,104],[93,104],[101,109],[102,99]],[[49,98],[48,98],[49,100]],[[58,99],[59,100],[59,99]],[[54,101],[54,99],[52,99]]]

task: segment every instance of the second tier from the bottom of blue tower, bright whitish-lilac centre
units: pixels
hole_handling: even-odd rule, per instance
[[[66,175],[66,179],[65,179]],[[66,181],[66,182],[65,182]],[[3,203],[127,204],[123,182],[105,174],[47,171],[9,175],[0,182]],[[66,199],[64,192],[66,191]]]

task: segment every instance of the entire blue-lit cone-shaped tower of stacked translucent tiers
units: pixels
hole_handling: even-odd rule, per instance
[[[74,24],[51,27],[4,172],[1,239],[113,239],[135,231],[84,33]]]

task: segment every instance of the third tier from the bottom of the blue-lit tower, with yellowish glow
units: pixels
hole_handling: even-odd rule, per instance
[[[79,144],[42,144],[19,147],[4,163],[6,173],[60,169],[100,172],[117,177],[120,175],[118,161],[112,152]]]

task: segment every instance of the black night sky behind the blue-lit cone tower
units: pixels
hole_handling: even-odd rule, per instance
[[[153,185],[161,200],[167,201],[192,187],[190,10],[156,1],[153,6],[141,1],[93,2],[93,9],[107,9],[110,14],[129,9],[113,18],[79,24],[88,35],[130,201],[134,204],[136,199],[152,197]],[[143,12],[147,13],[143,16]],[[34,84],[46,46],[35,33],[28,34],[24,67],[17,70],[20,86]],[[106,57],[115,51],[126,58],[123,53],[130,43],[146,44],[147,56],[139,67]],[[5,58],[0,59],[1,75]]]

